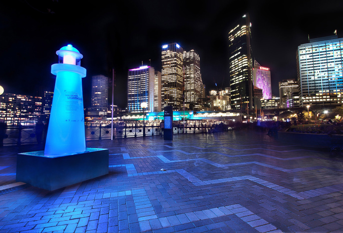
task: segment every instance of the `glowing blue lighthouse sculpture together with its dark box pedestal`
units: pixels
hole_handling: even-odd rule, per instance
[[[56,52],[59,63],[51,66],[56,84],[45,150],[19,153],[17,182],[56,190],[108,174],[109,152],[86,148],[80,66],[82,54],[72,45]]]

